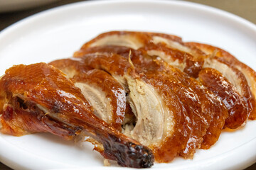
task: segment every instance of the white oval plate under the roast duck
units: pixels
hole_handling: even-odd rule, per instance
[[[13,64],[70,57],[108,30],[144,30],[180,35],[185,41],[223,47],[256,69],[256,28],[238,16],[186,1],[91,1],[61,6],[20,21],[0,34],[0,74]],[[256,121],[223,132],[193,160],[177,158],[154,169],[242,169],[256,162]],[[92,146],[49,134],[0,135],[1,162],[14,169],[113,169]],[[116,167],[121,169],[120,167]]]

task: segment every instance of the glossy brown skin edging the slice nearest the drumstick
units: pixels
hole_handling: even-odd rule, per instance
[[[63,59],[55,60],[49,64],[63,70],[64,73],[70,75],[70,80],[74,83],[85,83],[89,86],[103,91],[107,100],[110,101],[111,117],[107,118],[107,123],[110,123],[114,128],[121,130],[124,113],[126,111],[126,94],[124,88],[107,72],[100,69],[87,67],[82,60],[78,59]]]

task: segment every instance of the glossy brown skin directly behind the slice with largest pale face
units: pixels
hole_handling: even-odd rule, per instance
[[[154,81],[154,77],[161,77],[161,79],[163,79],[162,82],[164,82],[162,84],[166,84],[166,81],[164,81],[166,79],[172,82],[181,82],[181,84],[178,84],[180,89],[177,87],[177,91],[175,93],[179,95],[179,98],[183,98],[183,101],[186,101],[183,103],[183,106],[186,106],[186,110],[188,113],[190,113],[189,117],[191,121],[193,121],[193,125],[191,125],[193,135],[191,138],[193,137],[194,139],[193,142],[191,142],[192,140],[188,140],[187,147],[184,149],[186,152],[184,151],[185,153],[181,153],[183,157],[193,157],[194,149],[199,146],[201,148],[208,149],[218,140],[220,132],[225,123],[225,119],[228,116],[227,111],[223,103],[219,101],[218,98],[211,93],[211,91],[208,91],[208,89],[196,81],[196,79],[188,77],[187,74],[184,74],[179,69],[171,67],[161,60],[156,60],[154,57],[149,57],[144,50],[132,50],[129,47],[113,45],[87,47],[80,50],[80,54],[76,53],[75,56],[79,57],[80,55],[81,57],[82,53],[85,55],[95,52],[98,54],[108,53],[109,55],[118,54],[122,55],[122,57],[126,57],[127,60],[128,57],[130,57],[134,67],[137,69],[138,74],[144,74],[144,77],[146,77],[146,75],[147,77],[150,77],[149,74],[151,72],[151,75],[153,75],[151,76],[152,81]],[[130,56],[129,52],[131,52]],[[145,78],[144,81],[146,81]],[[186,94],[184,91],[184,93],[179,93],[179,91],[182,91],[182,89],[186,89],[186,93],[189,91],[191,95],[193,94],[196,100],[191,101],[188,96],[182,96],[181,94]],[[171,91],[175,91],[175,88]],[[193,108],[191,109],[189,106],[193,106]]]

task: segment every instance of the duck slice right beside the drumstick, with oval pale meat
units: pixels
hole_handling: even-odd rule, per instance
[[[49,63],[64,72],[94,108],[98,118],[121,130],[128,110],[124,88],[107,72],[87,67],[79,58]]]

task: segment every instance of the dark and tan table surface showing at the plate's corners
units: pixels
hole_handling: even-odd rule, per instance
[[[37,8],[30,8],[23,11],[13,11],[9,13],[0,13],[0,31],[10,26],[12,23],[31,16],[34,13],[40,11],[45,11],[48,8],[54,8],[55,6],[61,6],[64,4],[70,4],[81,0],[59,0],[55,1],[52,4],[45,6],[40,6]],[[235,15],[241,16],[242,18],[251,21],[256,24],[256,0],[215,0],[215,1],[205,1],[205,0],[187,0],[196,2],[198,4],[206,4],[208,6],[213,6],[215,8],[220,8],[224,11],[234,13]],[[1,4],[0,4],[1,5]],[[0,162],[1,170],[11,170],[8,166],[5,166]],[[248,167],[246,170],[255,170],[256,163]]]

